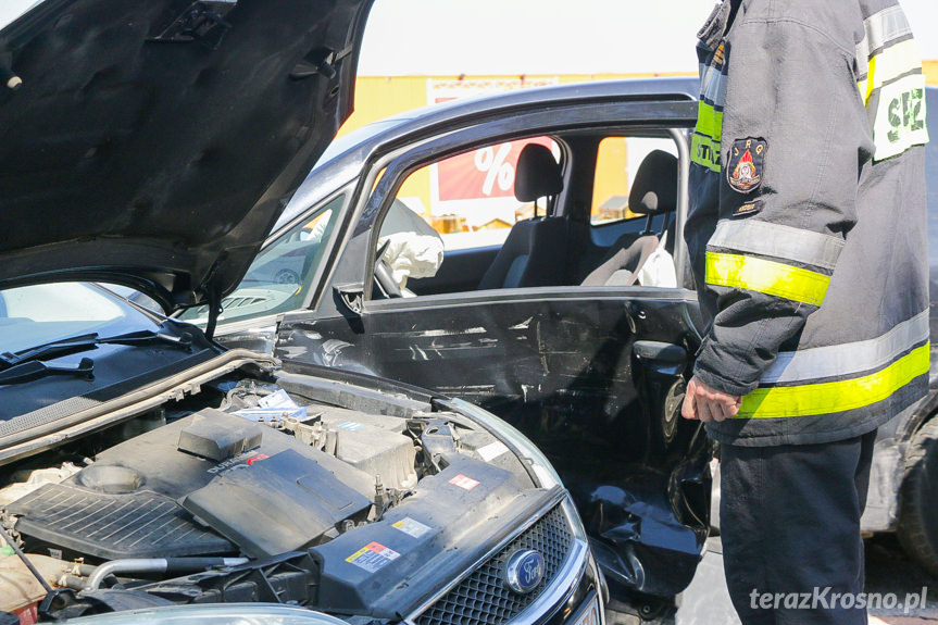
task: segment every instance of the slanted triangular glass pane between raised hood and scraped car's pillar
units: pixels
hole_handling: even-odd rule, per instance
[[[325,242],[338,221],[345,196],[340,195],[308,213],[264,247],[241,283],[222,300],[218,322],[233,322],[300,308],[323,260]],[[184,311],[179,318],[204,323],[208,307]]]

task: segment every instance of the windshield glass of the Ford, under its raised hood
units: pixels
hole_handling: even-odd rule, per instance
[[[0,353],[83,334],[107,336],[159,324],[120,298],[83,283],[0,290]]]

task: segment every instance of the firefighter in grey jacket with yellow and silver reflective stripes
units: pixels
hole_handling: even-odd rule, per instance
[[[921,55],[896,0],[724,0],[699,33],[685,230],[742,622],[866,623],[876,429],[928,386]]]

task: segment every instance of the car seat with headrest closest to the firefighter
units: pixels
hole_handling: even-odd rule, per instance
[[[654,150],[641,162],[628,193],[633,213],[647,215],[645,230],[635,239],[634,233],[621,236],[610,251],[583,280],[583,286],[631,286],[638,272],[658,249],[660,236],[666,230],[671,213],[677,208],[677,159],[663,150]],[[651,222],[664,215],[661,232],[653,234]]]

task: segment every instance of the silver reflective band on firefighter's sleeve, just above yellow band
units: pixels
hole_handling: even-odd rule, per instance
[[[723,220],[706,245],[825,270],[834,270],[843,249],[843,240],[837,237],[756,220]]]

